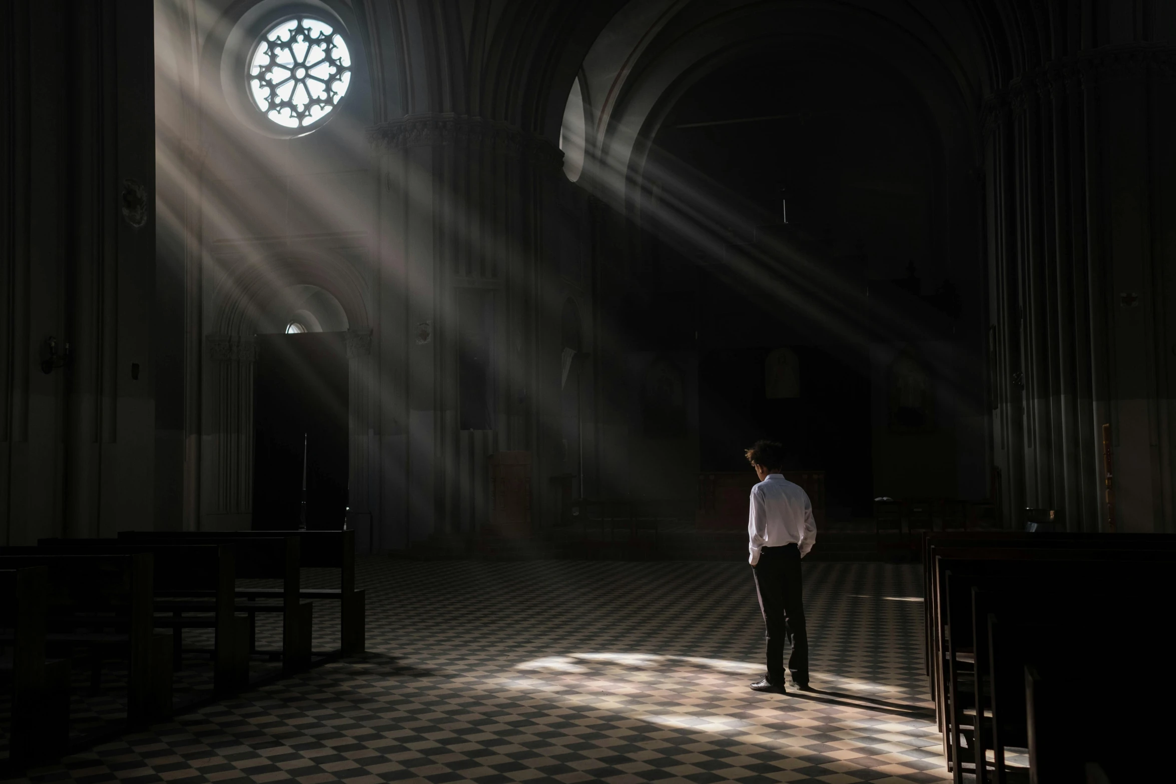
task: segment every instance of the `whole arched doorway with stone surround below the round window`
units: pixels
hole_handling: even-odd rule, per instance
[[[333,247],[340,240],[350,237],[223,249],[229,274],[211,297],[203,368],[205,530],[298,528],[306,441],[308,490],[327,490],[318,511],[308,504],[307,524],[347,520],[358,547],[370,547],[379,497],[369,470],[370,306],[356,267]]]

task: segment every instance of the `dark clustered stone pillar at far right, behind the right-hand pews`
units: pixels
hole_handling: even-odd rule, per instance
[[[1171,525],[1171,62],[1164,47],[1103,47],[985,103],[990,401],[1008,524],[1044,507],[1070,530],[1105,530],[1109,422],[1118,530]]]

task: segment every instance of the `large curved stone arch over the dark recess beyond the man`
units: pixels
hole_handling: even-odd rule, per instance
[[[981,159],[974,122],[980,85],[965,75],[963,56],[977,52],[978,45],[973,40],[976,31],[955,35],[958,46],[928,22],[904,18],[895,4],[873,9],[784,2],[715,8],[681,0],[632,0],[584,58],[589,121],[581,183],[640,217],[649,145],[669,108],[699,79],[769,47],[823,46],[856,51],[884,63],[922,96],[949,148],[944,156],[975,167]]]

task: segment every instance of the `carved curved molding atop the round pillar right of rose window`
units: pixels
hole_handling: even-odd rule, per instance
[[[409,147],[492,145],[507,155],[561,168],[563,152],[548,140],[499,120],[457,114],[417,114],[382,122],[367,130],[368,143],[380,154]]]

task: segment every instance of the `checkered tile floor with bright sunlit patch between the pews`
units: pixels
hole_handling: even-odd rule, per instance
[[[935,782],[918,567],[806,564],[811,692],[761,695],[749,568],[361,562],[368,654],[34,782]],[[318,608],[316,608],[318,609]]]

